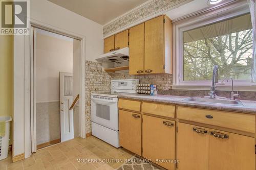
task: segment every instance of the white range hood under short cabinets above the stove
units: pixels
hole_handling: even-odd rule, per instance
[[[99,55],[96,60],[107,61],[107,62],[116,62],[116,61],[125,61],[129,60],[129,47],[124,47],[120,50],[116,50],[110,53],[105,53]]]

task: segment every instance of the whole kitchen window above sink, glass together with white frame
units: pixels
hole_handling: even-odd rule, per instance
[[[207,89],[214,65],[219,66],[220,82],[232,77],[235,85],[256,85],[251,83],[253,39],[249,10],[202,14],[175,23],[174,29],[174,89],[179,88],[177,85]]]

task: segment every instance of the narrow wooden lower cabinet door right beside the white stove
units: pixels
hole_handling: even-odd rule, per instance
[[[141,115],[119,110],[119,144],[141,156]]]

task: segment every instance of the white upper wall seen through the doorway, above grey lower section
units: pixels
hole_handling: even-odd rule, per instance
[[[37,29],[36,103],[59,101],[59,72],[73,71],[73,38]]]

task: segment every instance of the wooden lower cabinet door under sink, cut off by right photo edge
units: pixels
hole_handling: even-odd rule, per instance
[[[255,170],[254,138],[210,129],[209,170]]]

